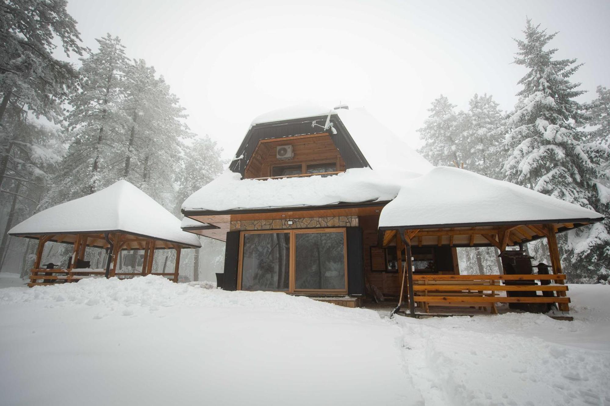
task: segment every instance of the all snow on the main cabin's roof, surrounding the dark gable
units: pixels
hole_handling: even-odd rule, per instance
[[[262,208],[324,206],[340,203],[387,202],[400,184],[434,168],[365,109],[324,109],[315,105],[289,107],[260,115],[262,124],[321,115],[337,115],[370,167],[351,168],[337,176],[241,179],[229,169],[189,196],[185,211],[253,210]],[[338,135],[331,135],[338,137]]]

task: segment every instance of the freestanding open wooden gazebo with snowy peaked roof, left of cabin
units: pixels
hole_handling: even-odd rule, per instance
[[[199,248],[198,237],[182,231],[181,221],[162,205],[126,180],[96,193],[47,208],[10,229],[9,235],[34,238],[38,248],[30,272],[29,287],[57,282],[76,282],[84,277],[133,277],[133,272],[117,272],[121,250],[143,250],[142,276],[169,277],[178,282],[183,248]],[[45,244],[49,241],[73,244],[66,269],[41,269]],[[90,269],[84,261],[85,249],[106,249],[105,269]],[[173,272],[152,272],[154,252],[175,249]]]

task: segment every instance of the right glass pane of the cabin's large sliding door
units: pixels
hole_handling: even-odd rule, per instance
[[[295,233],[295,290],[345,290],[343,232]]]

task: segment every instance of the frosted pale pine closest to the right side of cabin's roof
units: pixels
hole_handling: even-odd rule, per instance
[[[459,166],[464,162],[462,135],[468,127],[469,117],[467,113],[454,112],[454,107],[441,94],[428,109],[430,115],[424,126],[417,130],[424,141],[419,152],[432,165]]]

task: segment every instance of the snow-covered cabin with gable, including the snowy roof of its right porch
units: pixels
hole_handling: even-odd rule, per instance
[[[315,105],[254,119],[229,169],[182,212],[203,223],[185,230],[226,241],[224,289],[351,297],[398,296],[404,262],[415,279],[458,276],[457,247],[504,251],[602,218],[434,168],[364,109]]]

